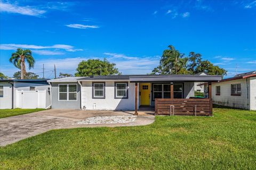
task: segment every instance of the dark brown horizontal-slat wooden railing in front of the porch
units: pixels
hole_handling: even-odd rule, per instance
[[[212,116],[212,99],[155,99],[155,114]]]

